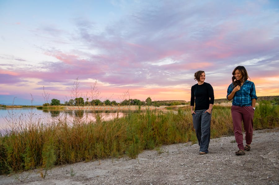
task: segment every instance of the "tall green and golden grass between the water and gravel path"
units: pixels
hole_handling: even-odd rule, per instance
[[[144,149],[160,145],[197,142],[190,106],[178,110],[128,111],[126,116],[94,122],[66,118],[49,119],[42,124],[32,120],[23,124],[13,119],[11,130],[0,137],[0,174],[33,168],[47,170],[54,165],[127,156],[136,158]],[[278,106],[259,103],[255,111],[255,129],[278,127]],[[211,137],[232,135],[230,106],[214,105]]]

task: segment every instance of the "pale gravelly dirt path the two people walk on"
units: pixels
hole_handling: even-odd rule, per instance
[[[148,150],[136,159],[111,158],[1,175],[0,184],[279,184],[279,129],[254,131],[252,149],[236,156],[234,136],[211,139],[209,153],[181,143]],[[72,170],[72,173],[71,173]],[[72,175],[71,175],[72,174]]]

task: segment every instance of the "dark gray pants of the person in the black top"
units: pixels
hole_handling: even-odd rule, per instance
[[[197,140],[200,145],[200,152],[208,153],[208,146],[210,141],[210,121],[211,114],[206,110],[195,111],[193,116],[193,125],[196,130]]]

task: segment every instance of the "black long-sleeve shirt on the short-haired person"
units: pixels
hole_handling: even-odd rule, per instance
[[[209,83],[195,84],[191,87],[191,106],[196,103],[195,111],[208,109],[214,103],[214,91]]]

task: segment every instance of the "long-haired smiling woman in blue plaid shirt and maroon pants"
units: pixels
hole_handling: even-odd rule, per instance
[[[239,150],[236,155],[244,155],[251,149],[253,137],[253,118],[256,105],[255,84],[247,80],[248,73],[243,66],[237,66],[232,71],[232,83],[228,86],[227,99],[232,99],[232,123],[234,136]],[[243,145],[242,124],[245,130],[246,145]]]

